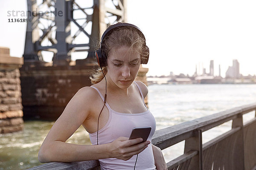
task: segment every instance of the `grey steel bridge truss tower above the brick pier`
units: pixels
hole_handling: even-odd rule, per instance
[[[72,52],[87,51],[87,59],[93,59],[107,26],[126,21],[126,0],[37,1],[27,0],[28,11],[33,13],[28,15],[25,62],[43,62],[42,51],[53,52],[54,65],[69,63]]]

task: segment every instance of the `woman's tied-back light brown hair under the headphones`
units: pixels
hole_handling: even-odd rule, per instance
[[[107,58],[111,52],[122,46],[130,48],[131,51],[138,52],[141,60],[148,55],[143,34],[140,31],[137,31],[134,27],[123,26],[117,28],[107,37],[104,37],[102,41],[102,49]],[[96,71],[90,76],[92,84],[96,84],[104,78],[102,71],[106,75],[108,72],[107,67],[102,67],[102,70],[101,68],[96,69]]]

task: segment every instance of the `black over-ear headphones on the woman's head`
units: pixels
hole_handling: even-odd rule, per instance
[[[142,35],[143,39],[145,40],[145,36],[142,33],[142,31],[140,30],[140,28],[138,28],[137,26],[134,26],[132,24],[128,24],[128,23],[116,23],[110,27],[108,27],[108,29],[106,29],[106,31],[103,33],[102,38],[101,38],[101,42],[100,42],[100,48],[98,50],[95,51],[95,55],[97,58],[97,62],[100,68],[107,66],[107,55],[104,52],[104,47],[102,47],[102,42],[104,40],[104,37],[107,37],[109,34],[111,34],[111,32],[113,32],[114,30],[120,28],[120,27],[125,27],[125,26],[130,26],[133,28],[136,28],[136,30],[139,32],[139,34]],[[141,59],[140,64],[147,64],[148,63],[148,57],[149,57],[149,48],[146,45],[146,41],[145,41],[145,47],[146,47],[146,51],[148,52],[148,55],[146,57],[144,57],[144,59]]]

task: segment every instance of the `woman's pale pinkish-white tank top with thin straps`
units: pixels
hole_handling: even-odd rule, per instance
[[[137,85],[143,103],[145,105],[140,86],[136,82],[134,83]],[[100,91],[95,87],[92,88],[98,91],[100,97],[104,101],[104,97],[102,96]],[[148,140],[151,142],[152,136],[156,130],[156,121],[154,119],[154,116],[148,110],[148,108],[147,111],[143,113],[119,113],[113,111],[113,109],[111,109],[107,102],[106,106],[109,111],[109,117],[106,125],[99,130],[99,144],[111,143],[120,136],[130,137],[131,131],[134,127],[144,126],[152,127],[151,132],[148,136]],[[89,136],[92,144],[97,144],[97,132],[89,133]],[[131,159],[127,161],[116,158],[99,159],[101,170],[134,170],[136,156],[137,155],[132,156]],[[152,145],[150,143],[148,144],[148,147],[145,150],[138,154],[135,170],[155,170],[155,168],[156,167],[154,165]]]

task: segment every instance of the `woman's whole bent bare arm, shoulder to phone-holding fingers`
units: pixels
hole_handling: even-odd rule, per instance
[[[42,163],[50,161],[87,161],[104,158],[129,159],[143,151],[148,144],[139,139],[128,140],[120,137],[109,144],[79,145],[66,143],[67,139],[87,119],[95,102],[94,90],[81,88],[70,100],[61,116],[54,123],[38,152],[38,160]],[[102,107],[102,106],[100,106]],[[138,144],[140,143],[140,144]]]

